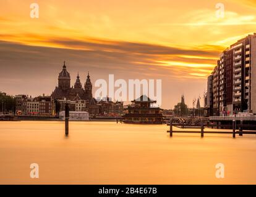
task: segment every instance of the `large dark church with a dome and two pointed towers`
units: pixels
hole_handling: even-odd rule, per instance
[[[56,87],[51,94],[53,99],[64,99],[74,100],[79,97],[82,100],[87,100],[90,102],[92,99],[92,82],[90,80],[89,72],[87,74],[87,78],[84,86],[82,87],[82,83],[80,82],[80,76],[77,74],[77,79],[75,81],[74,86],[70,85],[70,74],[67,71],[66,62],[62,66],[62,71],[59,73],[58,77],[58,87]]]

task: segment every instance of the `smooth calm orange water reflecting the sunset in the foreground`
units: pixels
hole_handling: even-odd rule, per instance
[[[174,127],[175,128],[175,127]],[[175,128],[176,129],[176,128]],[[0,183],[256,183],[256,136],[166,133],[166,125],[0,122]],[[39,164],[39,179],[30,164]],[[215,164],[225,166],[216,179]]]

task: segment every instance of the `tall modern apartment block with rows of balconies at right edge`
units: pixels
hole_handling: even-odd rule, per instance
[[[213,115],[256,113],[256,33],[224,50],[211,76]]]

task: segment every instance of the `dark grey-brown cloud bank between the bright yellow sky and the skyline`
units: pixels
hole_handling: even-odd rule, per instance
[[[72,39],[50,41],[61,46],[80,46],[83,49],[27,46],[0,41],[0,89],[9,94],[51,94],[58,82],[62,61],[66,60],[72,84],[77,71],[82,82],[85,82],[87,71],[92,74],[93,82],[96,79],[107,79],[108,74],[125,80],[162,79],[162,103],[163,107],[168,108],[175,104],[174,100],[171,103],[168,100],[171,92],[177,87],[184,91],[184,87],[190,85],[182,84],[187,84],[188,80],[193,79],[195,84],[200,81],[200,86],[203,86],[202,81],[211,71],[208,65],[214,65],[214,57],[218,54],[215,50],[189,50],[135,42],[81,42]],[[195,89],[195,92],[198,90]]]

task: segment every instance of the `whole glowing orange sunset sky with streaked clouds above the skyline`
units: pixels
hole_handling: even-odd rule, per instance
[[[192,99],[206,89],[205,79],[221,50],[256,31],[254,0],[221,1],[224,18],[216,17],[218,1],[213,0],[35,2],[39,18],[30,18],[32,1],[0,1],[0,41],[6,41],[0,47],[6,52],[0,54],[0,90],[10,94],[22,93],[14,88],[14,81],[20,79],[19,83],[27,86],[30,82],[26,74],[31,80],[38,78],[42,63],[55,66],[54,70],[49,68],[53,72],[49,78],[42,79],[46,80],[45,89],[41,89],[44,92],[31,87],[24,93],[51,94],[66,59],[73,78],[77,70],[90,70],[95,71],[95,80],[113,73],[119,78],[162,79],[169,92],[163,95],[164,108],[172,108],[181,94],[191,107]],[[49,60],[46,49],[58,50],[59,56]],[[59,52],[62,49],[67,50]],[[77,50],[90,57],[77,55]]]

